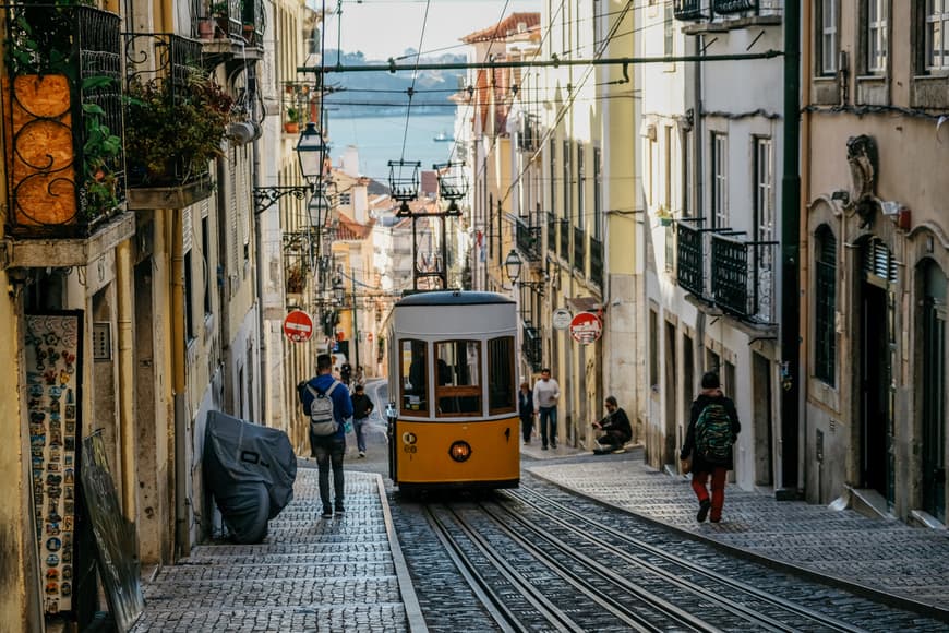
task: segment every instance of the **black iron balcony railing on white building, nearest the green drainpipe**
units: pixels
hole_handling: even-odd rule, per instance
[[[743,320],[774,322],[774,250],[778,242],[711,236],[712,300]]]

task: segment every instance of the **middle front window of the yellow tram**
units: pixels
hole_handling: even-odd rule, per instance
[[[481,415],[481,343],[441,341],[435,344],[440,416]]]

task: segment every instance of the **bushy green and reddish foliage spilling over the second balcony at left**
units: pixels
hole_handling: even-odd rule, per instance
[[[133,81],[125,93],[125,156],[134,181],[180,184],[224,156],[233,98],[202,71],[185,82]]]

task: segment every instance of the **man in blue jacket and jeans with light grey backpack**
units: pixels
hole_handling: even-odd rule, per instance
[[[343,456],[346,454],[346,420],[352,417],[349,390],[333,378],[333,357],[316,357],[316,375],[297,387],[303,413],[310,418],[310,454],[320,469],[320,501],[323,518],[345,512]],[[334,499],[329,498],[329,468],[333,468]]]

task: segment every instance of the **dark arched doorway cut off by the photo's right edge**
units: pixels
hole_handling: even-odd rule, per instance
[[[933,262],[923,268],[923,510],[946,523],[946,295]]]

